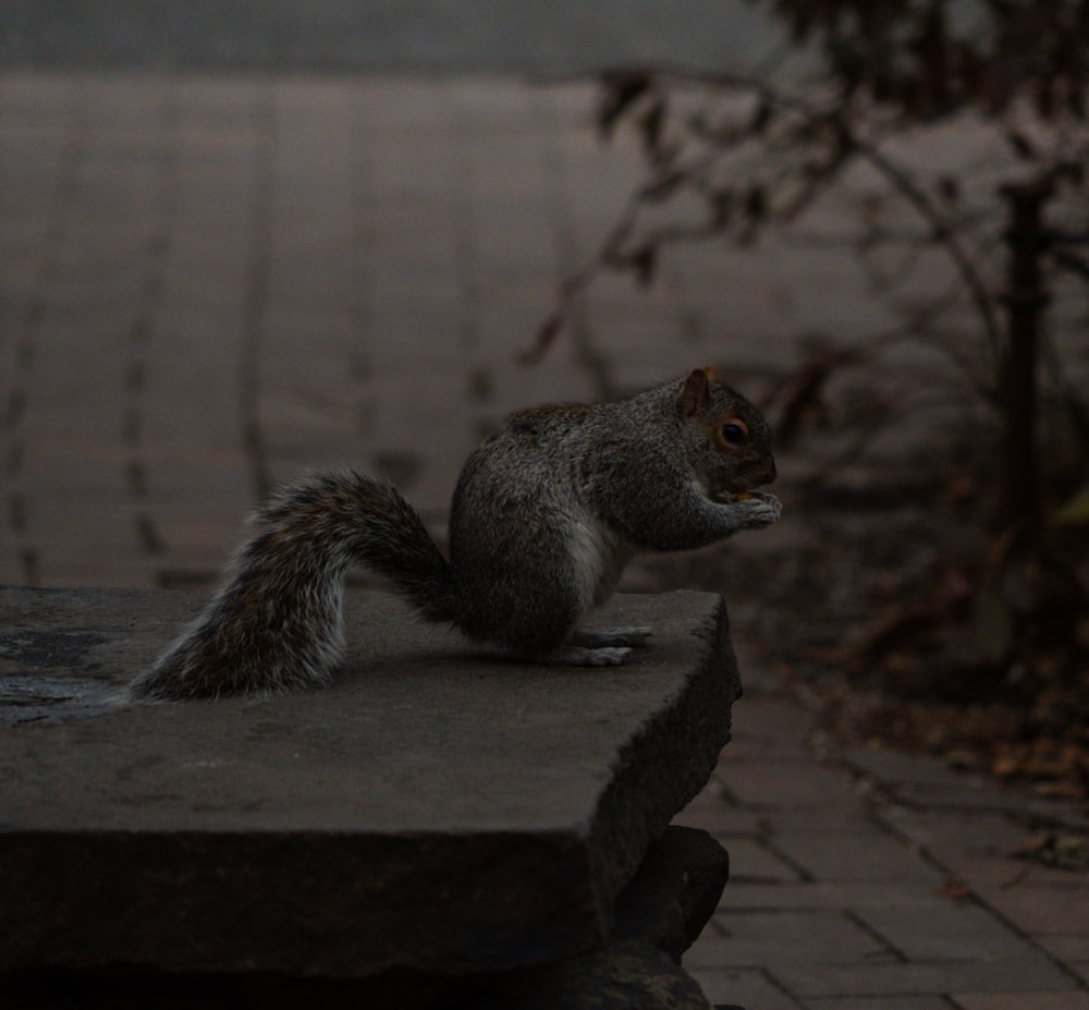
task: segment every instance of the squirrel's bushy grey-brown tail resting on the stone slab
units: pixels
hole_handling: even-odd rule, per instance
[[[451,569],[396,488],[353,472],[278,491],[208,608],[132,685],[137,697],[279,692],[328,681],[344,653],[348,569],[384,576],[420,614],[452,621]]]

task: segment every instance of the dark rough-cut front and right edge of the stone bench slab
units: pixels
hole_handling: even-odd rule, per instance
[[[494,970],[600,947],[648,843],[702,788],[729,740],[739,682],[724,605],[708,609],[707,599],[709,616],[689,630],[700,638],[695,669],[622,747],[582,833],[497,831],[464,844],[419,836],[396,840],[391,855],[382,839],[350,831],[21,832],[0,823],[0,936],[8,938],[0,968],[348,977],[393,966]],[[491,890],[480,893],[480,868],[497,866]],[[577,908],[570,900],[550,906],[552,895],[587,886],[591,893]],[[379,901],[404,888],[441,914],[400,922],[386,909],[374,920],[359,916],[360,896]],[[108,918],[89,928],[102,918],[103,901]]]

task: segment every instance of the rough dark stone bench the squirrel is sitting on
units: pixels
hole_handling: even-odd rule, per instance
[[[601,626],[651,624],[650,646],[576,669],[352,593],[329,687],[127,702],[201,603],[0,589],[9,979],[114,1001],[122,986],[134,1005],[169,979],[332,986],[367,1006],[647,1007],[669,991],[706,1007],[677,964],[726,854],[668,826],[741,692],[718,597],[616,597]]]

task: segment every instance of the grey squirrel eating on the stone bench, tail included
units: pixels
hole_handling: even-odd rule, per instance
[[[362,563],[427,621],[542,662],[611,666],[649,628],[579,630],[638,551],[770,525],[771,431],[711,367],[627,400],[517,411],[466,461],[448,561],[392,485],[318,472],[273,495],[207,609],[132,684],[139,698],[327,683]]]

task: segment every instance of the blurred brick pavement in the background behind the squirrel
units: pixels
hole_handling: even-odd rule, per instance
[[[514,365],[639,178],[585,85],[0,76],[0,581],[206,584],[270,483],[346,461],[441,525],[461,461],[544,399],[888,321],[848,253],[686,251],[604,278]],[[842,278],[841,278],[842,282]]]

